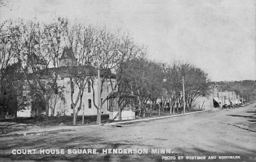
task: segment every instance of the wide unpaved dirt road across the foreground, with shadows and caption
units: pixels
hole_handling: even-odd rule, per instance
[[[132,123],[124,127],[58,127],[41,136],[4,137],[0,139],[3,144],[0,157],[2,160],[43,161],[256,161],[254,106]],[[88,149],[94,148],[96,154],[86,154]],[[36,151],[34,154],[13,154],[19,153],[18,149]],[[64,154],[40,154],[40,149],[63,149]],[[73,149],[86,153],[75,154]],[[165,149],[167,153],[158,153],[158,149]],[[170,149],[171,153],[168,152]],[[113,154],[114,151],[119,154]],[[190,159],[184,160],[185,156]]]

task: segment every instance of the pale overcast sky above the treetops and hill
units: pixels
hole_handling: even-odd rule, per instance
[[[255,1],[250,0],[1,0],[1,22],[56,16],[119,28],[148,46],[159,62],[184,61],[212,81],[256,80]]]

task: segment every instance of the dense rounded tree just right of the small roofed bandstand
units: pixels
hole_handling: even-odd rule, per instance
[[[127,64],[130,65],[130,68],[124,73],[123,86],[138,97],[138,104],[143,110],[143,116],[145,116],[147,102],[152,101],[155,105],[156,100],[162,97],[162,67],[159,63],[144,58],[135,58]]]

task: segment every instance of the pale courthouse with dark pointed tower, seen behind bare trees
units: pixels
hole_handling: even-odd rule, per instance
[[[77,59],[74,57],[74,53],[72,49],[65,48],[62,52],[62,56],[60,58],[60,67],[58,69],[58,77],[57,77],[57,86],[65,87],[63,89],[63,96],[61,98],[58,98],[56,94],[53,94],[53,97],[50,99],[49,102],[49,116],[51,114],[54,114],[56,116],[57,114],[59,115],[67,115],[67,116],[72,116],[73,115],[73,107],[71,105],[71,82],[69,79],[69,67],[67,65],[72,65],[75,66],[77,65]],[[83,67],[83,68],[88,68],[90,75],[95,75],[95,78],[97,77],[97,69],[92,68],[92,67]],[[109,69],[103,69],[100,71],[100,76],[104,73],[111,73]],[[112,78],[115,79],[114,75],[112,74]],[[103,85],[103,92],[102,92],[102,98],[105,99],[108,94],[111,92],[109,83],[106,82]],[[95,88],[95,103],[97,105],[98,103],[98,93],[97,93],[97,83],[94,84]],[[77,99],[77,94],[79,92],[79,88],[75,86],[74,84],[74,92],[73,93],[73,99]],[[83,115],[83,107],[84,107],[84,115],[97,115],[97,109],[94,106],[93,103],[93,92],[92,92],[92,87],[91,87],[91,80],[89,80],[86,83],[86,88],[84,88],[84,93],[83,93],[83,106],[82,109],[79,111],[78,115]],[[78,101],[77,107],[80,103],[80,99]],[[28,107],[25,112],[18,112],[18,116],[28,116],[28,111],[31,111],[31,106],[32,104]],[[106,101],[102,105],[101,112],[102,114],[107,114],[109,113],[107,107],[109,106],[108,101]],[[53,112],[54,111],[54,112]]]

